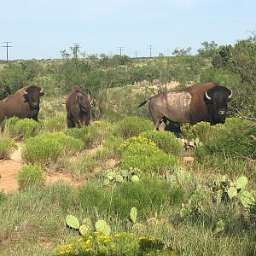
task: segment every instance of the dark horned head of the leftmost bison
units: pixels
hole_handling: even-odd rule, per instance
[[[29,86],[26,88],[24,93],[24,102],[28,102],[31,109],[38,109],[40,103],[40,96],[44,96],[43,87],[39,88],[38,86]]]

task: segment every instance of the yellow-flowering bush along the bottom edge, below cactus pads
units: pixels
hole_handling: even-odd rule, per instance
[[[121,232],[111,236],[94,232],[92,235],[73,238],[60,247],[56,247],[54,256],[89,255],[175,255],[174,251],[158,237],[137,236],[134,233]]]

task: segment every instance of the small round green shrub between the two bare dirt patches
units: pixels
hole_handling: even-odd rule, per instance
[[[42,185],[45,180],[44,170],[39,166],[24,165],[18,172],[18,184],[20,189]]]

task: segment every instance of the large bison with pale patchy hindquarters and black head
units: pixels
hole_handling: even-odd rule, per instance
[[[170,121],[172,125],[183,123],[195,125],[205,121],[212,125],[224,124],[227,102],[232,91],[224,86],[207,83],[194,84],[184,90],[162,92],[139,104],[142,107],[148,102],[149,112],[154,121],[154,129]]]

